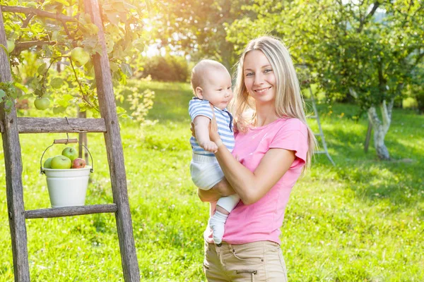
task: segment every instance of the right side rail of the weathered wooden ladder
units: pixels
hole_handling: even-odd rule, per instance
[[[126,191],[126,175],[124,166],[124,151],[119,133],[117,109],[112,86],[110,63],[107,58],[105,35],[103,32],[102,16],[98,0],[84,0],[86,13],[98,26],[98,38],[102,47],[102,55],[93,56],[95,81],[97,85],[100,115],[105,118],[107,132],[105,143],[107,161],[109,162],[110,178],[112,184],[113,200],[118,206],[115,214],[119,247],[121,249],[122,269],[126,282],[140,281],[139,263],[137,262],[136,247],[132,229],[131,213],[129,209],[128,194]]]

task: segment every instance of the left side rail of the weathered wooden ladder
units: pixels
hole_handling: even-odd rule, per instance
[[[0,7],[0,44],[6,46],[6,32],[4,30],[3,14]],[[0,48],[0,82],[11,81],[11,69],[8,56]],[[13,273],[16,282],[30,281],[28,264],[27,233],[25,226],[25,210],[23,206],[22,161],[18,123],[16,123],[16,109],[11,107],[9,112],[0,105],[0,120],[4,125],[3,138],[4,167],[6,168],[6,197],[8,221],[11,228]]]

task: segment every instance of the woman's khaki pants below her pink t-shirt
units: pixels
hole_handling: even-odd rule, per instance
[[[241,245],[205,243],[204,273],[210,282],[286,282],[283,252],[277,243],[259,241]]]

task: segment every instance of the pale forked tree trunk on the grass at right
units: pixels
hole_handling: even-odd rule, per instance
[[[375,106],[371,106],[368,109],[368,118],[372,123],[372,128],[374,129],[374,147],[377,152],[377,157],[382,160],[389,160],[390,154],[386,145],[384,144],[384,137],[386,137],[387,131],[389,131],[391,123],[391,109],[393,109],[394,99],[391,99],[389,104],[386,103],[386,100],[383,100],[380,105],[382,111],[382,121],[380,121],[379,116],[377,115],[377,110]]]

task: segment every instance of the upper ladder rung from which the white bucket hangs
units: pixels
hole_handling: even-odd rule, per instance
[[[68,123],[69,121],[69,123]],[[18,118],[18,133],[105,133],[103,118]],[[4,125],[0,126],[4,128]],[[3,133],[1,131],[1,133]]]

